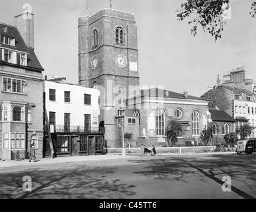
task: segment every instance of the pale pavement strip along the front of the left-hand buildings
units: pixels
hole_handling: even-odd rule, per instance
[[[136,155],[128,155],[122,156],[122,154],[105,154],[105,155],[90,155],[90,156],[66,156],[59,158],[43,158],[38,160],[37,162],[29,162],[29,160],[0,160],[0,169],[7,167],[15,167],[15,166],[41,166],[41,165],[49,165],[49,164],[61,164],[68,162],[84,162],[84,161],[98,161],[98,160],[116,160],[122,158],[134,158]]]

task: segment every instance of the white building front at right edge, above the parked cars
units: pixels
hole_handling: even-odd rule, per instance
[[[234,119],[241,119],[241,117],[247,119],[248,124],[251,127],[256,127],[256,103],[252,101],[234,100],[233,103]],[[237,127],[243,125],[243,122],[238,122]],[[253,129],[251,137],[255,138],[256,128]]]

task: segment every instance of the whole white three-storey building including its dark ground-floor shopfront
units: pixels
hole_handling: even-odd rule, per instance
[[[95,153],[95,148],[103,145],[103,133],[99,129],[98,105],[100,91],[68,83],[65,78],[44,81],[45,97],[45,146],[49,137],[55,154]],[[49,128],[48,128],[49,127]],[[88,147],[90,142],[90,146]],[[103,146],[100,146],[102,149]],[[47,156],[47,151],[45,154]]]

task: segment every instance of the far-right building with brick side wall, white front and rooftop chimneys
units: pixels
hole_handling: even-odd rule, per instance
[[[255,83],[245,78],[245,70],[238,68],[223,76],[223,83],[217,79],[217,86],[201,96],[209,100],[209,109],[219,109],[230,115],[235,123],[233,131],[245,123],[255,127]],[[255,137],[255,129],[251,137]]]

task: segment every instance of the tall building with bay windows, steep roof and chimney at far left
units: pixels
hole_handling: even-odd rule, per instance
[[[33,14],[0,23],[0,158],[43,156],[43,67],[34,52]]]

